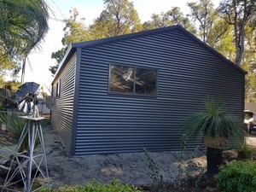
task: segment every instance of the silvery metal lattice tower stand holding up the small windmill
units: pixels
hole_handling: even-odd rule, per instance
[[[24,192],[37,191],[48,186],[49,173],[47,168],[46,154],[44,148],[44,137],[40,121],[43,117],[32,118],[29,116],[20,116],[21,119],[27,119],[27,123],[21,133],[17,146],[16,154],[11,160],[9,172],[3,183],[3,191],[17,191],[13,186],[17,183],[24,185]],[[21,144],[28,136],[28,151],[20,152]],[[37,148],[36,148],[37,145]],[[15,170],[13,169],[15,167]],[[40,176],[39,186],[37,189],[33,183],[37,176]],[[19,177],[19,180],[17,180]]]

